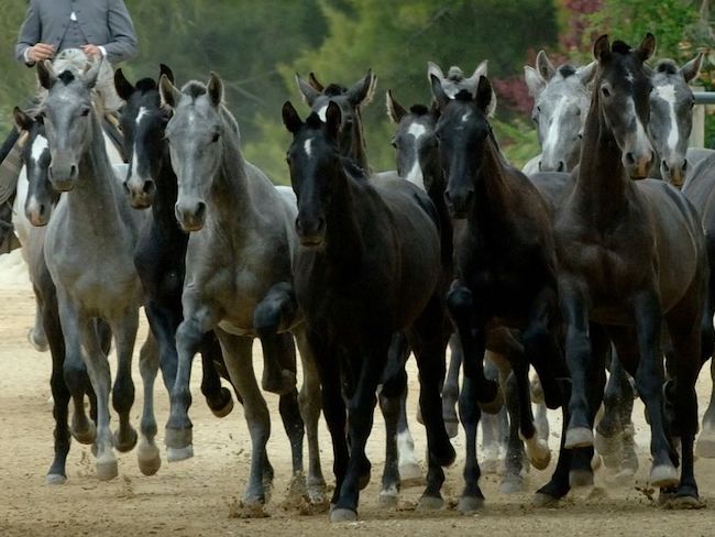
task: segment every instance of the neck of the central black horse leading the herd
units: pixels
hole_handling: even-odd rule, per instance
[[[326,208],[326,254],[338,266],[352,272],[365,248],[356,206],[365,191],[342,168],[332,183],[334,193]]]

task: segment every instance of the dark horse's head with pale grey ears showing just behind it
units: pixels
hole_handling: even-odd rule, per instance
[[[484,163],[484,150],[491,136],[487,114],[492,105],[492,84],[480,77],[472,96],[462,90],[453,99],[431,77],[432,95],[440,109],[436,135],[440,161],[447,177],[444,200],[453,218],[466,218],[474,204],[476,182]]]

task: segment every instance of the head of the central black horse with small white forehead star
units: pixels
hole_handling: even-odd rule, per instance
[[[288,101],[283,105],[283,123],[293,134],[287,162],[298,200],[296,231],[304,246],[317,248],[323,243],[328,207],[338,188],[342,111],[337,102],[329,102],[324,122],[317,112],[304,122]]]

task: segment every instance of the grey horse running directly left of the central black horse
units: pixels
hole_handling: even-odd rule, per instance
[[[239,125],[223,105],[219,76],[211,74],[208,85],[189,81],[180,91],[163,76],[160,90],[163,106],[173,110],[166,138],[178,180],[176,217],[190,232],[182,300],[184,321],[176,333],[178,371],[166,426],[169,460],[193,454],[188,418],[191,359],[204,335],[216,330],[251,432],[251,474],[244,503],[261,506],[265,502],[263,469],[271,420],[256,383],[251,349],[254,338],[260,337],[266,359],[268,352],[276,352],[268,335],[256,325],[262,325],[266,302],[273,305],[277,300],[274,311],[278,311],[280,322],[275,324],[276,331],[293,331],[302,360],[305,382],[299,403],[308,434],[308,494],[312,502],[322,503],[320,383],[305,322],[293,309],[290,286],[297,244],[295,196],[278,190],[243,158]],[[302,476],[294,474],[296,479]]]

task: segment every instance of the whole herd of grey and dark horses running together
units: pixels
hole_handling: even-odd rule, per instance
[[[263,388],[279,395],[292,487],[330,506],[331,520],[355,519],[377,403],[387,432],[381,503],[396,503],[400,480],[425,479],[405,409],[411,353],[427,431],[418,508],[443,505],[458,423],[466,446],[459,511],[484,503],[481,420],[491,452],[504,435],[495,426],[508,427],[502,490],[520,490],[525,464],[546,469],[551,459],[547,407],[561,408],[563,429],[537,504],[592,484],[601,460],[632,476],[636,392],[651,429],[650,483],[670,506],[701,507],[695,382],[715,338],[715,153],[688,150],[688,83],[702,55],[682,68],[672,61],[651,68],[654,48],[650,34],[635,48],[602,36],[594,62],[580,68],[556,68],[539,53],[525,77],[542,152],[524,172],[506,161],[490,125],[496,97],[486,63],[470,77],[430,63],[428,106],[405,108],[387,92],[397,169],[380,174],[371,172],[361,118],[374,74],[352,87],[297,76],[310,112],[301,117],[289,101],[282,111],[293,188],[275,187],[244,160],[216,74],[178,89],[164,65],[158,79],[135,84],[118,70],[123,146],[110,155],[92,100],[99,66],[40,63],[44,102],[36,114],[14,112],[25,166],[14,224],[37,300],[30,339],[53,359],[47,482],[65,482],[72,437],[92,445],[101,480],[118,475],[114,450],[135,446],[141,471],[156,473],[160,370],[170,399],[166,457],[193,457],[189,382],[200,353],[212,413],[233,408],[224,377],[249,425],[244,504],[262,506],[273,479]],[[140,351],[138,435],[129,413],[142,306],[151,330]],[[332,439],[330,498],[321,410]],[[697,452],[715,457],[713,401]]]

